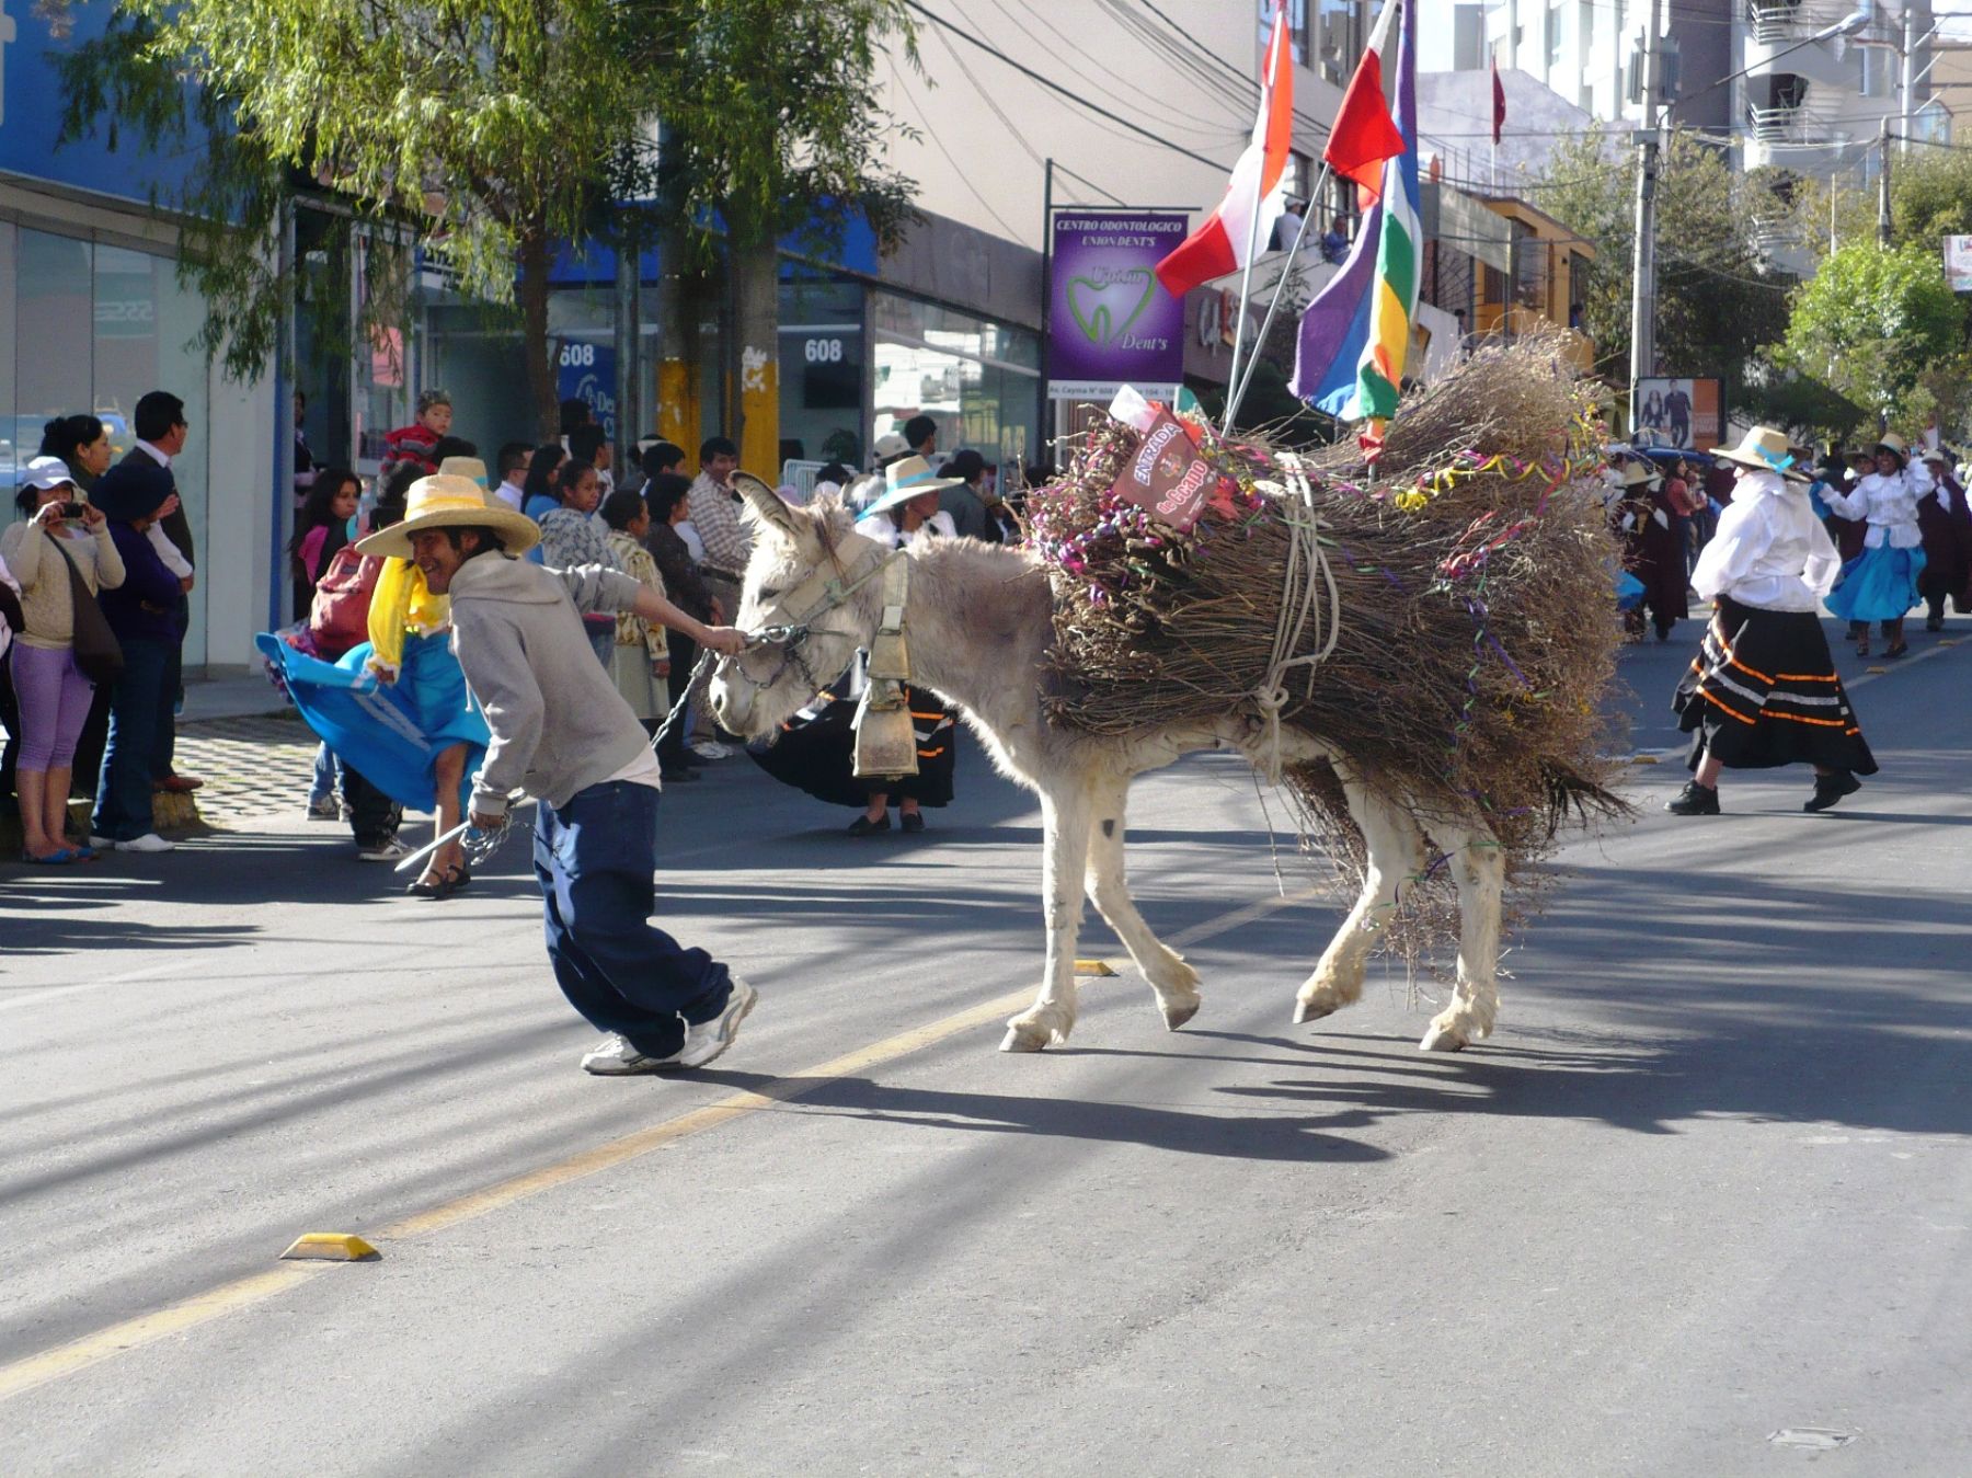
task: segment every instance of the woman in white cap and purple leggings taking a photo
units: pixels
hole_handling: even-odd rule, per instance
[[[28,464],[16,499],[30,523],[16,523],[0,537],[0,562],[22,592],[26,629],[14,643],[14,697],[20,704],[22,860],[35,864],[77,862],[95,856],[89,847],[63,839],[69,813],[69,768],[75,740],[89,716],[93,683],[75,665],[73,566],[89,594],[114,590],[124,580],[122,556],[110,543],[108,521],[77,501],[75,480],[55,456]]]

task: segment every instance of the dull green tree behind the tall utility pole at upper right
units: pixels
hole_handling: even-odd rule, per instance
[[[1656,369],[1718,375],[1727,405],[1743,397],[1749,361],[1787,326],[1791,278],[1765,264],[1759,225],[1795,207],[1775,180],[1737,176],[1724,154],[1672,130],[1656,176]],[[1637,154],[1599,124],[1556,140],[1530,203],[1595,245],[1578,284],[1597,369],[1629,379]],[[1757,225],[1759,223],[1759,225]]]

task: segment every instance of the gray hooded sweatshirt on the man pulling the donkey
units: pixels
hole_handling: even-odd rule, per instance
[[[568,805],[649,748],[580,620],[635,610],[639,588],[596,564],[552,570],[507,554],[479,554],[452,576],[454,651],[493,730],[473,811],[503,815],[515,789]]]

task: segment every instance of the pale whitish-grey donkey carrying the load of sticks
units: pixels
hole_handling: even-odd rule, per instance
[[[1033,1004],[1008,1020],[1002,1052],[1041,1052],[1075,1028],[1075,945],[1083,894],[1122,939],[1177,1030],[1199,1010],[1199,975],[1144,924],[1124,884],[1124,799],[1130,781],[1199,750],[1236,750],[1260,764],[1258,720],[1227,716],[1209,726],[1128,736],[1089,734],[1051,722],[1053,592],[1037,556],[972,539],[929,539],[903,551],[860,535],[834,499],[789,507],[765,483],[736,478],[755,531],[738,626],[769,631],[738,659],[720,661],[712,706],[736,734],[759,738],[791,718],[868,647],[883,620],[883,564],[911,560],[903,626],[911,681],[954,702],[994,766],[1041,801],[1041,890],[1047,961]],[[1363,892],[1296,995],[1294,1020],[1311,1022],[1363,995],[1380,916],[1396,888],[1428,866],[1426,843],[1449,858],[1459,894],[1457,983],[1420,1048],[1457,1052],[1493,1030],[1499,1010],[1503,850],[1479,825],[1420,815],[1376,776],[1319,740],[1282,730],[1290,764],[1327,762],[1343,781],[1363,831]]]

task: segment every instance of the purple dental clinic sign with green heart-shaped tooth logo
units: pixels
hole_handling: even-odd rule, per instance
[[[1047,393],[1102,401],[1130,385],[1169,403],[1185,375],[1185,304],[1156,266],[1189,231],[1183,211],[1055,215]]]

